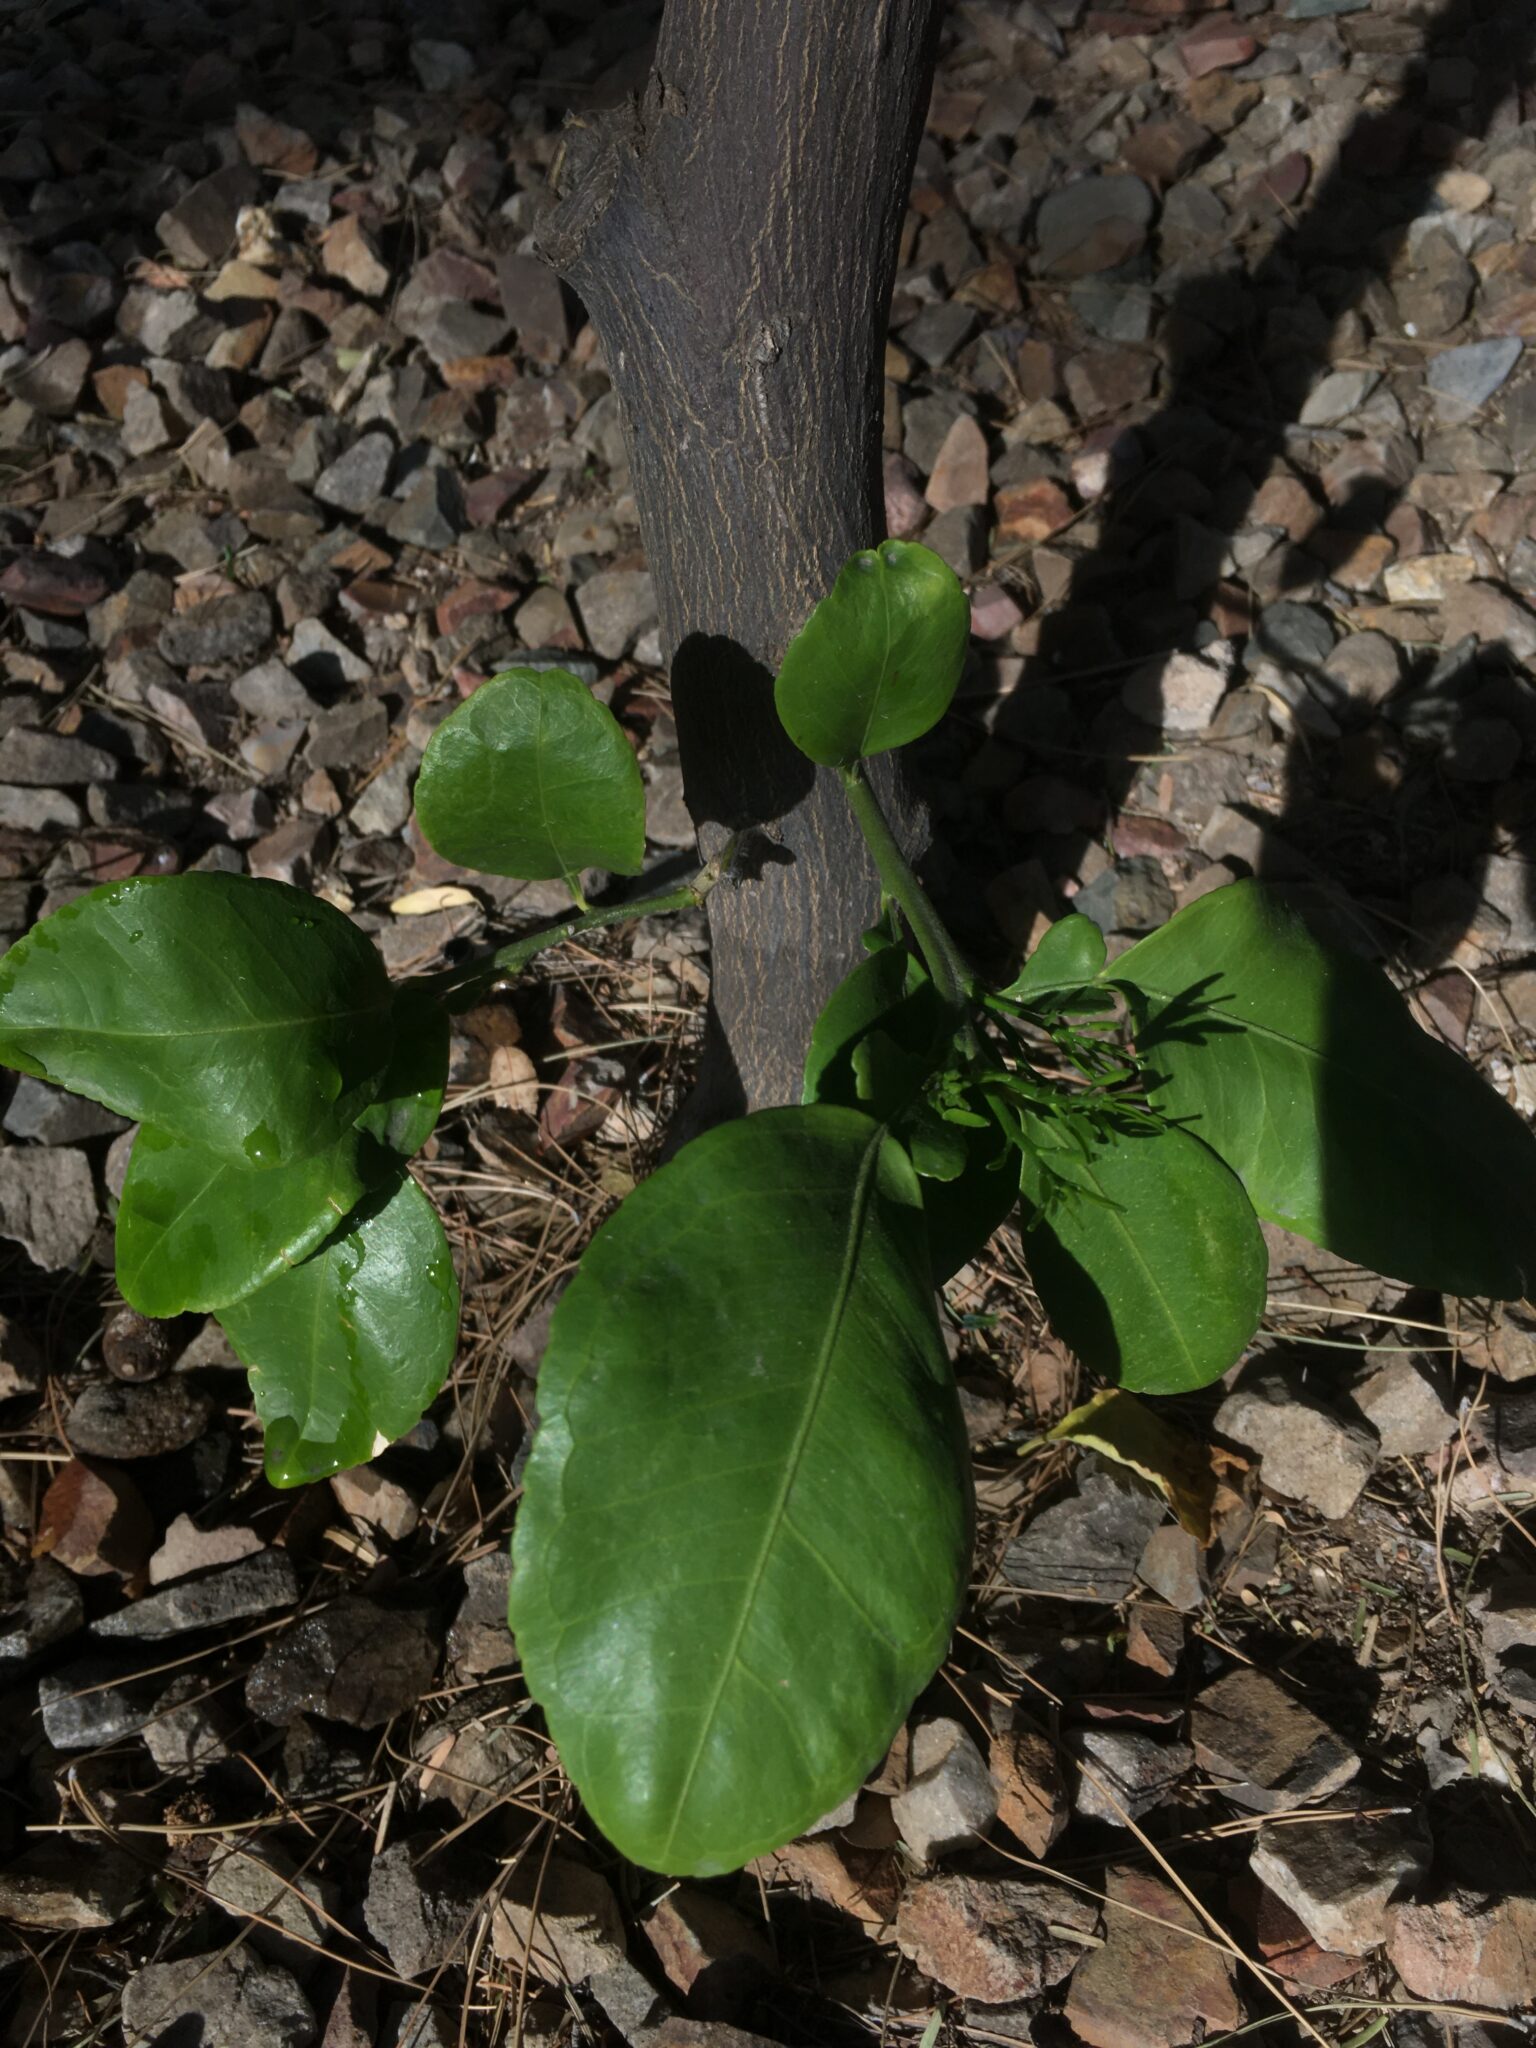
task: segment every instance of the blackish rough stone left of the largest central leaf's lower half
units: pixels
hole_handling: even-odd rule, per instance
[[[377,1729],[416,1706],[436,1661],[426,1614],[342,1595],[268,1642],[246,1679],[246,1702],[262,1720],[324,1714]]]

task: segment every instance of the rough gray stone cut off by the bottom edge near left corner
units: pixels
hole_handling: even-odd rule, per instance
[[[317,2032],[293,1972],[248,1948],[152,1962],[123,1987],[125,2048],[309,2048]]]

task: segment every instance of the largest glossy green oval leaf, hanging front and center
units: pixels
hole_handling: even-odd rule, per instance
[[[733,1870],[844,1800],[944,1655],[965,1430],[918,1182],[856,1110],[696,1139],[555,1313],[512,1628],[637,1864]]]

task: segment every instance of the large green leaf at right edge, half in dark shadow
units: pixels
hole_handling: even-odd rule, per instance
[[[1384,975],[1321,946],[1272,891],[1202,897],[1110,979],[1139,1010],[1153,1100],[1260,1214],[1397,1280],[1536,1286],[1536,1139]]]

